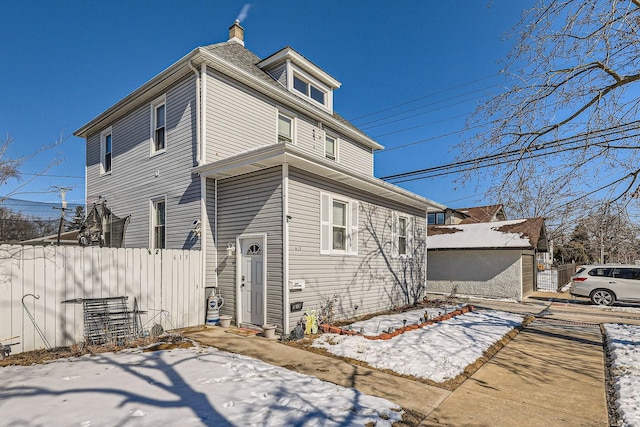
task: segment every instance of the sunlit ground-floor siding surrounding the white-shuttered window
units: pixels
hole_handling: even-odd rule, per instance
[[[320,255],[320,193],[359,202],[358,254]],[[289,280],[305,280],[305,289],[292,290],[290,302],[303,301],[302,312],[291,313],[289,330],[307,309],[320,310],[323,301],[338,295],[334,313],[344,319],[402,304],[384,259],[365,230],[365,210],[374,211],[371,224],[390,244],[392,212],[413,216],[424,227],[425,213],[391,204],[374,195],[295,168],[289,172]],[[392,259],[395,263],[397,260]],[[357,307],[357,308],[356,308]]]

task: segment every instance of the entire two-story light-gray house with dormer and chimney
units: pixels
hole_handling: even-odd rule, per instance
[[[290,47],[258,58],[235,23],[75,132],[87,199],[132,215],[127,247],[200,250],[237,323],[398,304],[388,268],[445,206],[373,176],[382,146],[334,112],[340,85]]]

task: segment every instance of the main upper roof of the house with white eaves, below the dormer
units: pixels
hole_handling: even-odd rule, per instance
[[[289,92],[269,73],[262,70],[258,66],[259,62],[261,60],[257,55],[242,44],[233,41],[197,47],[73,134],[87,138],[102,131],[140,105],[151,102],[170,85],[192,74],[194,67],[205,63],[211,69],[265,94],[294,111],[303,111],[311,118],[325,122],[336,132],[341,132],[372,150],[384,148],[339,114],[322,110],[304,98]]]

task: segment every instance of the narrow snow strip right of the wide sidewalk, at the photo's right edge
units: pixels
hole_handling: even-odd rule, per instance
[[[640,326],[605,324],[622,425],[640,426]]]

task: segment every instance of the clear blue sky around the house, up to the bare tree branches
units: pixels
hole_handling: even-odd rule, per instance
[[[14,197],[58,201],[46,191],[65,186],[82,203],[85,147],[72,133],[196,46],[226,41],[245,4],[248,49],[264,58],[292,46],[323,68],[342,82],[335,110],[387,149],[425,140],[377,153],[385,176],[455,160],[457,131],[499,90],[512,44],[503,36],[532,0],[0,0],[0,138],[14,140],[5,156],[64,140],[29,160],[22,182],[55,155],[64,163]],[[452,207],[495,202],[483,183],[454,178],[402,186]]]

